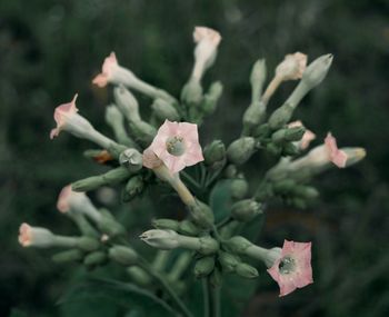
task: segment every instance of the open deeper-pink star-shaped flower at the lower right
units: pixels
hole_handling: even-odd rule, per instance
[[[313,283],[311,242],[283,241],[281,257],[268,269],[280,287],[280,296]]]

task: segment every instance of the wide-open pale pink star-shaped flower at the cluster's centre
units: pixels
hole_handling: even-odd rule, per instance
[[[203,160],[197,125],[188,122],[166,120],[148,150],[152,150],[171,172],[178,172],[186,166],[192,166]],[[147,159],[146,166],[149,165],[148,161]]]

